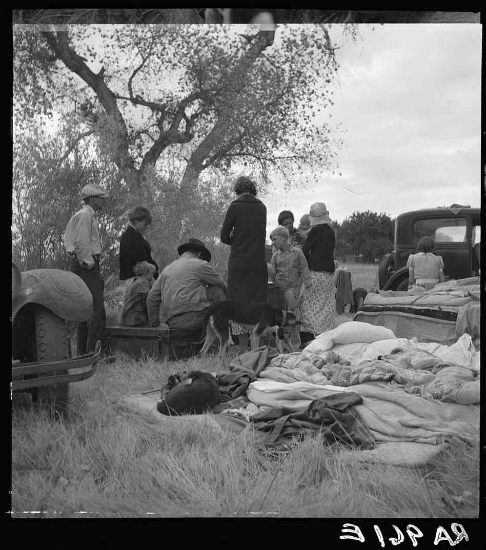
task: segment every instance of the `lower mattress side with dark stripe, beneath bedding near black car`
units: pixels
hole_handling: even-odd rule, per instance
[[[353,320],[389,328],[397,338],[450,345],[457,340],[457,311],[416,307],[362,306]]]

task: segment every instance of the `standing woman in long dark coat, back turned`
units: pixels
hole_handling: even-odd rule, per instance
[[[231,245],[228,259],[228,300],[267,301],[267,207],[255,196],[256,185],[241,176],[235,182],[236,199],[229,205],[221,229],[222,243]],[[246,332],[233,325],[234,334],[242,334],[240,347],[247,348]]]

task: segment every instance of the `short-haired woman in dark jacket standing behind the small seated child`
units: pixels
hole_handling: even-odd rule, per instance
[[[154,278],[158,277],[158,266],[152,258],[152,249],[143,237],[152,223],[152,215],[143,206],[135,206],[128,215],[129,224],[120,238],[120,281],[135,277],[134,267],[138,262],[148,262],[155,266]]]

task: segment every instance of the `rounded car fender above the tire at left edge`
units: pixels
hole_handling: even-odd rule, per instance
[[[12,273],[15,269],[16,266],[12,267]],[[12,322],[26,304],[40,304],[67,321],[88,321],[93,315],[93,296],[86,283],[75,273],[50,269],[23,271],[20,273],[20,286],[17,273],[15,277]],[[18,287],[15,294],[14,285]]]

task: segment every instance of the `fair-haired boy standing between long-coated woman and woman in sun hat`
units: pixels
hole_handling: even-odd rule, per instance
[[[289,244],[289,232],[285,227],[277,227],[270,233],[270,239],[277,249],[270,263],[268,273],[277,287],[284,291],[285,309],[294,313],[300,320],[300,290],[302,282],[310,282],[310,272],[302,249]],[[294,351],[300,347],[299,324],[292,328],[290,343]]]

